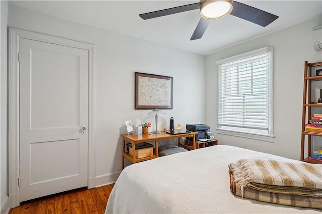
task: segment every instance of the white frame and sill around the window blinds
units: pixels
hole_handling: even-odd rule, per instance
[[[220,65],[226,64],[229,62],[242,60],[246,58],[251,58],[256,55],[268,53],[269,54],[269,69],[268,69],[268,130],[267,133],[261,133],[261,132],[253,132],[250,130],[245,131],[247,128],[229,128],[228,126],[223,126],[218,124],[218,101],[219,101],[219,80],[221,75]],[[244,137],[244,138],[251,138],[261,141],[267,141],[267,142],[274,142],[274,135],[273,135],[273,46],[268,46],[264,48],[259,48],[253,51],[249,51],[246,53],[238,54],[232,57],[228,57],[225,59],[218,60],[216,62],[217,65],[217,132],[218,134],[225,134],[225,135],[232,135],[232,136],[238,136],[238,137]],[[244,129],[244,130],[243,130]]]

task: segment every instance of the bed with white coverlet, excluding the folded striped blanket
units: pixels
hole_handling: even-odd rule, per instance
[[[321,213],[234,196],[228,164],[243,158],[298,162],[216,145],[136,163],[121,172],[105,213]]]

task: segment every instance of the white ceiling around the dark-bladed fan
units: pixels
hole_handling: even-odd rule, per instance
[[[225,16],[212,20],[203,37],[190,41],[199,20],[199,10],[143,20],[138,15],[151,11],[196,3],[195,1],[9,1],[10,4],[40,11],[70,21],[108,29],[184,51],[207,55],[225,47],[320,17],[318,1],[239,2],[279,16],[262,27],[246,20]]]

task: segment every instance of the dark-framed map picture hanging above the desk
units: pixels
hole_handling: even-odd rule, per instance
[[[135,109],[172,109],[172,77],[135,72]]]

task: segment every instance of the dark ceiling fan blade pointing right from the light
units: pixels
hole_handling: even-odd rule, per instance
[[[233,1],[233,9],[230,14],[263,27],[271,24],[278,18],[274,14],[236,1]]]

